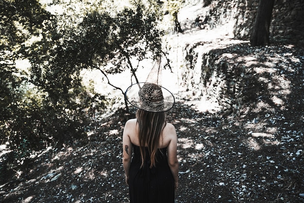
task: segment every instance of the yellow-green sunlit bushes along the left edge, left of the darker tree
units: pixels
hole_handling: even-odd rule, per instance
[[[62,43],[67,39],[56,31],[55,18],[36,0],[1,3],[0,144],[8,143],[20,160],[32,150],[85,138],[104,97],[81,86],[77,47]],[[17,67],[26,58],[31,69]]]

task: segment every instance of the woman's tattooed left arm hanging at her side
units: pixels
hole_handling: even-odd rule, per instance
[[[129,184],[129,170],[132,158],[133,145],[128,132],[130,131],[130,122],[127,121],[122,135],[122,165],[125,171],[126,184]]]

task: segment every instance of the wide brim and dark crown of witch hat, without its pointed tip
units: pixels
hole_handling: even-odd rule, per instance
[[[127,101],[137,109],[150,112],[165,112],[175,103],[173,94],[166,88],[148,82],[135,83],[125,92]]]

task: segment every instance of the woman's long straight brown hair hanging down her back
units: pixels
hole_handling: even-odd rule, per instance
[[[138,123],[138,139],[141,155],[141,166],[144,166],[146,158],[145,146],[148,146],[152,166],[156,165],[156,154],[158,150],[158,143],[162,130],[166,126],[166,113],[165,112],[149,112],[137,110],[136,118]]]

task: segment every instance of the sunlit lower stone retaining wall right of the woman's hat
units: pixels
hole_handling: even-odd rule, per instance
[[[186,69],[182,75],[187,98],[201,102],[208,111],[239,114],[243,104],[244,81],[248,69],[241,58],[248,53],[248,44],[196,43],[186,47]],[[204,50],[204,52],[202,51]],[[206,50],[209,50],[205,52]],[[252,50],[252,49],[251,49]]]

